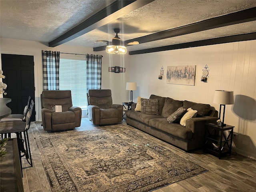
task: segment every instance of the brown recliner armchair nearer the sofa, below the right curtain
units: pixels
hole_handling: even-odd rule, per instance
[[[112,104],[110,89],[88,90],[88,118],[94,125],[122,122],[123,106]]]

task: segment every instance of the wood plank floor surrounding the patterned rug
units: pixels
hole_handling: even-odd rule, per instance
[[[122,123],[126,124],[125,121]],[[210,154],[203,153],[202,150],[187,153],[135,128],[129,128],[209,170],[198,176],[154,190],[154,192],[256,192],[256,160],[235,155],[235,152],[221,160]],[[100,127],[94,126],[89,122],[88,118],[82,118],[82,125],[79,128],[67,132],[95,129],[100,129]],[[67,132],[48,133],[43,130],[41,122],[31,123],[29,138],[34,166],[30,167],[26,160],[22,159],[25,192],[51,191],[34,140],[38,137],[66,134]]]

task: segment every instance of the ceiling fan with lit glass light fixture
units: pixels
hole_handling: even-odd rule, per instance
[[[106,46],[106,52],[110,54],[126,54],[126,46],[128,45],[137,45],[139,44],[138,41],[133,41],[130,43],[124,43],[120,37],[118,37],[118,33],[120,32],[120,29],[114,28],[114,32],[116,33],[116,36],[112,38],[112,41],[106,41],[106,40],[97,40],[95,42],[105,42],[107,43]]]

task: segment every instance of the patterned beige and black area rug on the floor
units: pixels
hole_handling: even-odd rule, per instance
[[[126,125],[37,138],[52,191],[148,192],[207,170]]]

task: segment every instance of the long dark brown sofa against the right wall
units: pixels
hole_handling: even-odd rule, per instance
[[[186,151],[204,146],[204,124],[216,123],[218,111],[209,104],[200,104],[186,100],[179,101],[156,95],[151,95],[150,99],[158,99],[159,115],[135,111],[136,103],[133,103],[132,110],[126,112],[126,122],[128,125]],[[197,110],[197,116],[186,120],[186,126],[180,125],[179,122],[169,123],[167,117],[181,106],[184,106],[186,109],[191,107]]]

